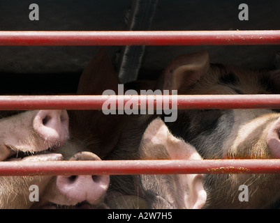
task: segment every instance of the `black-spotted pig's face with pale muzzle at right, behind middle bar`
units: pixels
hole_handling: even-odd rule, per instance
[[[175,61],[178,63],[175,65],[177,68],[172,68],[174,64],[167,68],[169,72],[174,69],[168,74],[169,77],[165,70],[165,78],[171,78],[173,85],[163,88],[178,89],[179,94],[257,94],[278,91],[280,73],[277,72],[210,65],[206,52],[182,56]],[[193,109],[179,111],[177,122],[170,123],[170,128],[173,133],[196,146],[204,158],[275,158],[279,155],[271,138],[276,137],[274,133],[278,118],[279,114],[271,109]],[[183,122],[184,128],[176,128],[180,122]],[[212,145],[209,145],[208,140],[212,141]]]

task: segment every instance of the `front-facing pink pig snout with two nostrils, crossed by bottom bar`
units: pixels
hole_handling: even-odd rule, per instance
[[[94,153],[82,152],[74,155],[71,160],[101,160]],[[82,201],[96,204],[103,200],[108,189],[110,176],[58,176],[57,189],[75,205]]]

